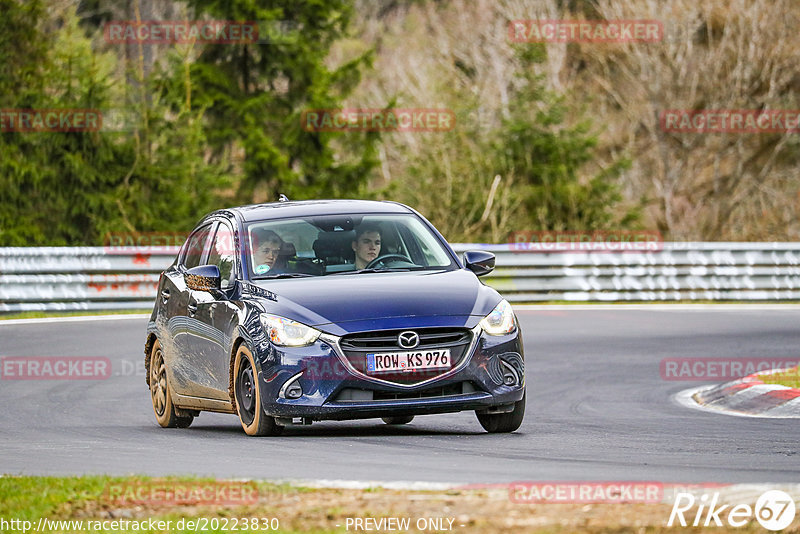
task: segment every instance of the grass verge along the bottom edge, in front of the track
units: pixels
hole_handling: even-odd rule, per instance
[[[242,487],[250,490],[242,491]],[[671,505],[664,503],[517,503],[509,499],[503,486],[358,490],[186,477],[0,477],[0,530],[4,532],[23,531],[2,523],[11,520],[30,521],[28,531],[64,533],[723,532],[718,528],[668,528],[670,510]],[[43,518],[48,521],[39,528]],[[397,518],[406,520],[409,527],[366,528],[367,518]],[[357,528],[356,519],[363,521],[362,528]],[[170,523],[151,527],[146,524],[150,521]],[[749,533],[759,529],[758,523],[751,521],[736,530]]]

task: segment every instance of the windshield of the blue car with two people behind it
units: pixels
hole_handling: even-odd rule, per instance
[[[412,214],[256,221],[246,232],[256,279],[455,268],[437,236]]]

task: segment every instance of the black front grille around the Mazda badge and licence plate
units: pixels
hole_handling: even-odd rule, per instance
[[[419,335],[419,345],[413,349],[403,348],[397,342],[397,336],[401,332],[409,330]],[[446,373],[449,369],[402,371],[370,375],[366,371],[367,354],[375,352],[406,352],[409,350],[424,352],[446,348],[450,349],[452,368],[456,367],[467,356],[467,349],[471,342],[472,332],[466,328],[404,328],[349,334],[342,337],[340,346],[347,361],[358,372],[396,384],[411,385]]]

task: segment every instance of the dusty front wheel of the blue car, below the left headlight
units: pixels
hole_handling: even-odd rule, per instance
[[[236,351],[233,361],[233,399],[236,413],[248,436],[278,436],[283,427],[275,423],[275,418],[264,413],[261,406],[261,390],[258,387],[253,353],[244,345]]]

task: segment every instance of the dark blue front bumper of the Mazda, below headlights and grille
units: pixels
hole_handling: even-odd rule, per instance
[[[507,407],[525,389],[521,333],[489,336],[472,329],[465,356],[452,369],[415,385],[402,385],[354,369],[336,336],[323,335],[308,347],[258,352],[259,386],[265,413],[281,418],[345,420],[452,413]],[[503,383],[503,362],[519,367],[520,380]],[[507,365],[505,365],[507,367]],[[289,385],[302,395],[285,398]]]

